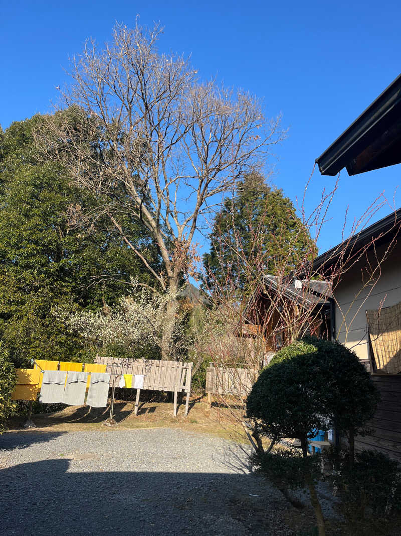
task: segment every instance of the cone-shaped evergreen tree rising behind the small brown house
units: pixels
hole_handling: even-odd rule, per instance
[[[246,175],[234,198],[225,200],[210,240],[210,252],[203,256],[210,287],[215,281],[225,286],[226,278],[248,287],[252,274],[246,273],[243,259],[256,272],[276,273],[283,267],[289,272],[316,253],[291,200],[268,187],[258,173]]]

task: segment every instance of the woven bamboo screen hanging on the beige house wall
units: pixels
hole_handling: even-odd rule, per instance
[[[377,369],[401,372],[401,302],[392,307],[366,311],[369,336]]]

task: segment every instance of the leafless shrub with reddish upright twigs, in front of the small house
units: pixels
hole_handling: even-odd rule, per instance
[[[227,263],[225,255],[221,259],[222,277],[217,279],[209,272],[205,280],[211,281],[211,312],[221,324],[220,332],[222,331],[224,336],[218,331],[211,332],[207,340],[204,337],[204,345],[216,369],[213,373],[214,378],[217,377],[217,387],[216,383],[213,387],[215,397],[221,404],[228,406],[233,422],[243,420],[244,405],[238,398],[235,402],[232,394],[245,392],[246,396],[246,392],[251,389],[252,378],[255,378],[255,371],[258,374],[277,349],[306,334],[323,338],[334,337],[333,326],[330,325],[334,305],[342,319],[337,326],[337,336],[340,329],[342,333],[345,331],[347,343],[346,339],[356,314],[363,310],[380,280],[382,265],[397,241],[401,226],[396,213],[394,222],[385,231],[389,239],[384,249],[378,245],[384,233],[372,236],[362,246],[358,245],[356,237],[372,221],[376,212],[387,204],[383,196],[379,196],[363,216],[354,222],[348,238],[337,248],[330,250],[318,268],[311,262],[316,255],[319,236],[324,232],[327,213],[336,189],[337,184],[333,190],[323,192],[317,207],[308,217],[305,216],[304,200],[299,207],[303,226],[299,227],[297,233],[305,233],[311,240],[309,248],[299,251],[296,267],[290,273],[288,266],[294,266],[292,257],[287,258],[280,250],[276,258],[267,258],[264,249],[259,247],[264,240],[264,229],[259,225],[252,227],[251,222],[246,222],[250,229],[249,240],[255,246],[251,256],[245,255],[240,237],[237,236],[238,229],[234,225],[230,233],[217,236],[216,240],[220,243],[215,244],[215,250],[219,252],[230,248],[231,263]],[[252,206],[248,207],[248,212],[252,214]],[[344,229],[345,222],[343,235]],[[227,235],[229,240],[226,240]],[[296,243],[297,236],[294,235],[292,240]],[[291,247],[288,249],[289,255],[294,256]],[[266,273],[265,268],[268,262],[274,265],[273,273],[270,274]],[[360,270],[361,283],[352,303],[347,304],[346,310],[343,310],[335,299],[335,289],[344,274],[356,268]],[[245,288],[250,289],[248,293],[238,292],[237,279],[232,274],[238,273],[239,269],[246,279]],[[258,423],[252,424],[255,447],[262,449]]]

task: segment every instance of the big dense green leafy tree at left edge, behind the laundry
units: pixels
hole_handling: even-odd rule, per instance
[[[35,116],[0,134],[0,340],[17,365],[84,359],[90,349],[52,312],[107,309],[130,276],[148,281],[140,261],[96,213],[96,199],[54,163],[37,160],[32,131],[41,123]],[[72,225],[72,213],[82,211],[96,218]],[[139,224],[126,225],[157,263],[148,234]]]

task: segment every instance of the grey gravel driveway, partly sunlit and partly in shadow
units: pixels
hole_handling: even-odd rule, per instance
[[[178,429],[0,436],[3,536],[292,534],[229,441]]]

